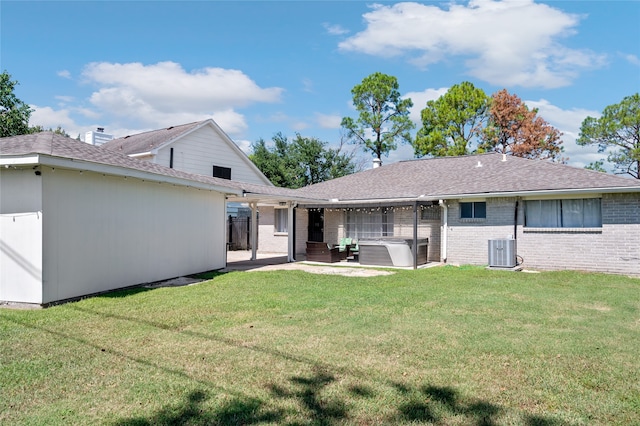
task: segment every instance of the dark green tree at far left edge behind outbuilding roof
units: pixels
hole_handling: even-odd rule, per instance
[[[15,95],[18,84],[11,81],[7,71],[0,74],[0,137],[31,133],[29,117],[33,110]]]

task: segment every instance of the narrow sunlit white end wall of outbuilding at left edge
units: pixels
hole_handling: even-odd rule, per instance
[[[42,179],[0,170],[0,300],[42,300]]]

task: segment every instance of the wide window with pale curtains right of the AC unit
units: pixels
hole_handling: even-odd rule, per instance
[[[601,228],[600,198],[525,201],[525,226],[532,228]]]

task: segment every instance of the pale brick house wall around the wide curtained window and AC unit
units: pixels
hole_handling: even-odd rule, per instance
[[[449,201],[447,261],[488,263],[488,240],[514,234],[515,198],[487,199],[486,219],[460,219]],[[640,276],[640,194],[604,194],[602,228],[527,229],[519,202],[517,254],[525,268],[574,269]]]

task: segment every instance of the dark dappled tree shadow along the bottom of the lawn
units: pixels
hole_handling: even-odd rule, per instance
[[[146,425],[252,425],[276,423],[284,425],[331,426],[353,421],[368,423],[359,419],[360,413],[351,413],[349,404],[338,396],[331,396],[327,387],[336,382],[335,376],[321,367],[316,367],[310,376],[293,376],[286,386],[270,384],[274,402],[281,400],[285,405],[298,408],[267,409],[267,404],[255,398],[238,397],[218,408],[209,408],[206,392],[190,392],[182,404],[169,404],[148,417],[138,416],[121,419],[113,423],[117,426]],[[425,385],[419,388],[392,384],[402,400],[394,407],[395,414],[379,420],[382,424],[456,424],[492,426],[501,424],[501,407],[482,400],[465,400],[458,392],[447,386]],[[348,389],[350,398],[374,398],[375,393],[364,387]],[[354,401],[355,402],[355,401]],[[269,403],[269,406],[276,404]],[[289,418],[288,418],[289,417]],[[378,422],[378,421],[377,421]],[[542,416],[524,415],[523,425],[560,426],[563,422]]]

